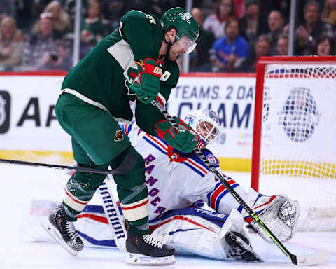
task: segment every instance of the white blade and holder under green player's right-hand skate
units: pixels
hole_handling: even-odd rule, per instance
[[[167,257],[151,257],[142,254],[129,253],[125,258],[125,262],[130,265],[148,265],[148,266],[160,266],[160,265],[172,265],[175,263],[174,256]]]

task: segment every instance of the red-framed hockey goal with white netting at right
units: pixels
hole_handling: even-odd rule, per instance
[[[298,200],[297,230],[336,230],[336,57],[258,62],[251,187]]]

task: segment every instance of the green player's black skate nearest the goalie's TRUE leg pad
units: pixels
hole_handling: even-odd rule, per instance
[[[163,244],[151,235],[139,235],[128,230],[126,249],[129,252],[126,262],[133,265],[168,265],[175,263],[174,247]]]

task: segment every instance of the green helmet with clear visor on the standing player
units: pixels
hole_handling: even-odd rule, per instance
[[[162,15],[161,25],[164,32],[167,32],[169,27],[176,29],[176,41],[179,41],[186,53],[194,50],[200,27],[190,13],[183,8],[170,8]]]

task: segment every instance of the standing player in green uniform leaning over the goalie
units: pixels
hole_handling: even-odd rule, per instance
[[[113,175],[123,214],[127,220],[126,249],[158,263],[174,262],[174,248],[149,235],[148,192],[145,165],[123,133],[118,121],[133,117],[130,101],[137,100],[135,118],[142,130],[164,137],[167,144],[189,153],[198,137],[188,130],[172,131],[171,125],[151,104],[165,104],[179,80],[176,59],[196,46],[199,27],[183,8],[162,15],[129,11],[120,27],[95,46],[62,83],[55,112],[62,128],[71,135],[73,158],[80,167],[106,170]],[[43,223],[62,246],[75,255],[83,249],[73,221],[83,211],[106,174],[76,172],[66,184],[62,206]],[[134,255],[135,254],[135,255]]]

